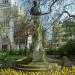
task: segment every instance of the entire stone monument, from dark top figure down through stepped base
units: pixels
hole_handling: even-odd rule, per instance
[[[34,6],[31,8],[31,15],[33,18],[33,39],[32,39],[32,44],[33,44],[33,60],[30,64],[22,66],[24,70],[30,70],[30,71],[43,71],[43,70],[51,70],[52,69],[52,64],[49,65],[47,62],[47,57],[45,56],[45,50],[43,49],[42,46],[42,26],[40,25],[40,12],[37,7],[37,2],[33,2]],[[37,10],[36,10],[36,9]],[[37,12],[38,13],[37,13]],[[46,60],[47,59],[47,60]],[[57,64],[54,65],[54,68],[57,66]],[[24,68],[25,67],[25,68]],[[34,70],[35,69],[35,70]]]

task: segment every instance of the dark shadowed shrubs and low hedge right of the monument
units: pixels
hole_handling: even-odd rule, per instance
[[[49,49],[47,51],[48,55],[60,55],[62,56],[72,56],[75,55],[75,41],[68,40],[66,44],[59,47],[58,49]]]

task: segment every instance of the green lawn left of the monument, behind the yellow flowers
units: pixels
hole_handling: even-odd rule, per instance
[[[5,57],[1,57],[1,62],[2,62],[2,67],[13,67],[15,66],[18,62],[17,60],[22,61],[23,59],[25,59],[26,56],[22,56],[22,55],[7,55]]]

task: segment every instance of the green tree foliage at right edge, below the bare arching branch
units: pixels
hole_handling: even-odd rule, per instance
[[[74,20],[68,19],[63,22],[63,28],[66,34],[64,34],[64,37],[66,40],[67,37],[75,36],[75,22]]]

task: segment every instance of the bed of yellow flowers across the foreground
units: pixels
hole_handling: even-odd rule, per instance
[[[67,68],[63,67],[61,70],[51,70],[51,71],[41,71],[41,72],[28,72],[28,71],[21,71],[15,69],[1,69],[0,75],[75,75],[75,67]]]

